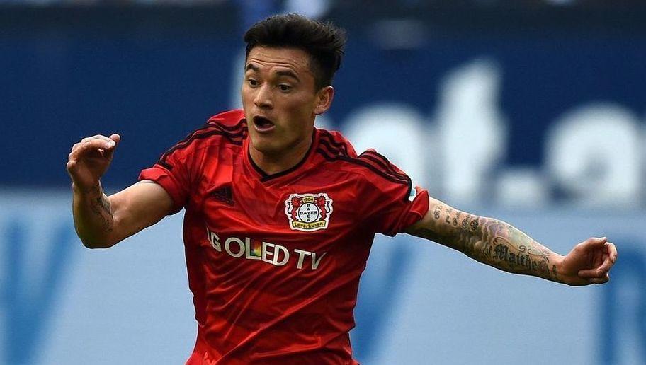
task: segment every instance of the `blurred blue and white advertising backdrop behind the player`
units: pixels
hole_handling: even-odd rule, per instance
[[[0,363],[182,364],[196,335],[181,215],[110,250],[74,234],[72,144],[123,140],[103,185],[239,106],[271,13],[348,30],[319,127],[431,195],[565,254],[608,236],[610,284],[499,272],[378,237],[363,364],[646,364],[646,6],[601,0],[0,0]]]

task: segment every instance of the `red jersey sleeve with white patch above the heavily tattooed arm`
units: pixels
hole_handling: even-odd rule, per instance
[[[370,165],[366,178],[372,191],[364,207],[375,232],[395,236],[426,215],[428,191],[413,187],[408,175],[375,151],[365,151],[359,159]]]

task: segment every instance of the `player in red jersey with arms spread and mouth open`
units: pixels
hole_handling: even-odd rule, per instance
[[[555,282],[608,281],[617,252],[606,238],[557,255],[509,224],[429,197],[375,151],[357,156],[338,132],[315,129],[345,42],[334,25],[274,16],[244,39],[244,111],[212,117],[110,197],[100,178],[118,134],[81,140],[67,163],[89,248],[186,209],[198,320],[188,364],[356,364],[348,332],[375,233],[410,233]]]

